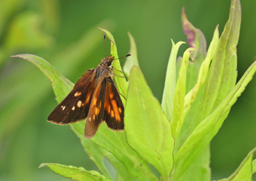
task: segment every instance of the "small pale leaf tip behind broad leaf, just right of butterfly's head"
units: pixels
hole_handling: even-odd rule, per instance
[[[128,32],[129,35],[129,43],[130,43],[130,49],[129,54],[131,56],[128,56],[125,63],[124,63],[124,74],[129,77],[129,72],[132,70],[133,66],[139,67],[139,62],[137,61],[137,48],[135,43],[135,38],[132,37],[131,33]]]

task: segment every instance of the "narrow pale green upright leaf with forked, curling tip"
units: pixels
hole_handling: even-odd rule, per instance
[[[176,45],[172,41],[172,51],[169,56],[169,62],[167,66],[167,75],[165,77],[164,83],[164,93],[161,101],[161,108],[164,111],[164,114],[167,116],[169,122],[172,122],[172,112],[173,112],[173,100],[175,98],[175,85],[176,85],[176,57],[177,51],[181,44],[185,42],[178,42]]]

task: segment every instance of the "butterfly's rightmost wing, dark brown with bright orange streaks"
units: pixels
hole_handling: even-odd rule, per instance
[[[124,105],[113,83],[112,77],[106,78],[103,120],[113,130],[124,130]]]

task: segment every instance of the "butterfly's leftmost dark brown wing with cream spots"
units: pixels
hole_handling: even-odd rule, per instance
[[[73,90],[49,114],[48,122],[66,125],[87,117],[89,105],[96,86],[96,70],[87,70],[76,82]]]

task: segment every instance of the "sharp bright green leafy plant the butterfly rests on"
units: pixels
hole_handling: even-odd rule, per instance
[[[209,143],[256,72],[254,62],[236,84],[240,23],[240,2],[233,0],[220,39],[216,28],[206,51],[204,35],[188,22],[183,11],[183,29],[192,48],[185,51],[183,59],[179,59],[182,62],[177,62],[176,67],[177,51],[183,42],[175,45],[172,41],[161,105],[139,68],[135,40],[129,34],[132,56],[124,65],[129,81],[115,77],[116,87],[127,98],[123,99],[126,106],[125,132],[114,132],[103,124],[95,137],[86,139],[85,121],[71,125],[103,175],[60,164],[42,164],[41,167],[47,166],[73,180],[113,180],[103,164],[105,157],[116,169],[116,180],[158,180],[148,164],[161,174],[161,180],[210,180]],[[111,54],[118,58],[113,35],[108,30],[100,30],[111,41]],[[20,54],[15,57],[32,62],[47,75],[58,102],[71,90],[73,84],[39,56]],[[119,60],[115,60],[113,67],[121,70]],[[116,74],[122,75],[120,72]],[[252,173],[255,173],[255,161],[252,161],[255,151],[256,148],[224,180],[251,180]]]

